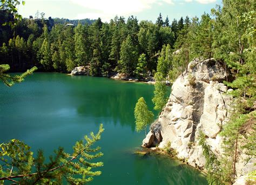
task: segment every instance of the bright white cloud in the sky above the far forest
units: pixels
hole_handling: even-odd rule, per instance
[[[116,15],[130,16],[132,13],[151,9],[152,5],[159,4],[158,0],[71,0],[71,2],[84,6],[90,9],[90,12],[93,12],[79,14],[78,18],[84,18],[86,16],[90,16],[90,18],[101,17],[104,21]],[[163,0],[162,2],[173,4],[172,0]]]

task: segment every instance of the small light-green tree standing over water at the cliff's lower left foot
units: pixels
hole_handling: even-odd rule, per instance
[[[134,108],[134,117],[136,123],[136,131],[140,132],[145,130],[149,124],[154,120],[154,114],[147,108],[146,101],[143,97],[138,99],[138,102]]]

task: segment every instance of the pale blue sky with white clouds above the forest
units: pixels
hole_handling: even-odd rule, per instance
[[[138,20],[156,22],[159,13],[170,20],[183,17],[200,17],[204,12],[210,13],[221,0],[25,0],[19,5],[18,12],[25,18],[35,16],[39,11],[45,18],[58,17],[68,19],[97,19],[109,22],[111,18],[133,15]]]

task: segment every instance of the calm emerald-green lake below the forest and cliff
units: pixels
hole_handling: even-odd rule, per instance
[[[197,169],[169,156],[134,154],[145,133],[137,133],[134,106],[140,97],[153,110],[154,86],[108,78],[35,73],[21,84],[0,84],[0,143],[19,139],[49,156],[59,146],[72,152],[77,140],[100,123],[105,131],[102,175],[89,184],[207,184]],[[157,112],[154,112],[157,117]]]

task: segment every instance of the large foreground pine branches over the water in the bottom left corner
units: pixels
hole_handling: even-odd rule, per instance
[[[13,139],[0,145],[0,183],[12,181],[28,184],[61,183],[64,179],[70,184],[84,184],[93,180],[93,176],[101,174],[93,171],[94,168],[103,166],[102,162],[89,162],[102,156],[99,147],[92,146],[100,140],[104,131],[103,125],[99,126],[97,134],[91,132],[90,137],[85,135],[83,140],[76,142],[73,153],[64,152],[63,148],[55,151],[50,156],[50,162],[45,162],[42,150],[38,150],[34,158],[30,147],[25,143]]]

